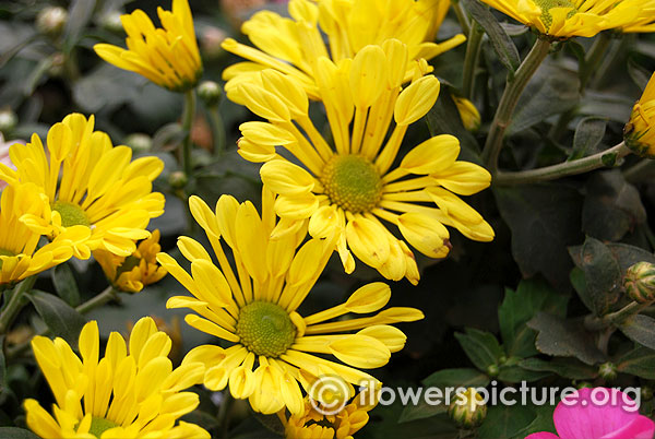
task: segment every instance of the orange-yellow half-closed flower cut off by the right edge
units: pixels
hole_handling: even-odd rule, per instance
[[[643,157],[655,158],[655,73],[634,104],[623,130],[626,144]]]

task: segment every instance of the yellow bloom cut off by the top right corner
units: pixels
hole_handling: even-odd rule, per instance
[[[653,32],[651,0],[483,0],[512,19],[556,38],[593,37],[602,31]]]

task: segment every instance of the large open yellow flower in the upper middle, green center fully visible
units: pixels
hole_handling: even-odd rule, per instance
[[[422,73],[425,61],[414,62],[414,80],[402,87],[406,59],[407,46],[391,39],[382,47],[365,47],[354,60],[338,64],[325,57],[319,60],[319,95],[334,147],[313,126],[307,94],[291,76],[269,69],[226,90],[230,99],[269,120],[240,126],[239,154],[266,162],[262,181],[281,195],[275,211],[285,224],[297,227],[309,218],[314,238],[338,229],[336,249],[347,273],[355,269],[352,250],[384,277],[407,277],[416,284],[414,253],[380,218],[397,226],[407,242],[430,258],[449,252],[444,225],[471,239],[489,241],[491,226],[455,193],[476,193],[489,186],[491,176],[478,165],[456,159],[460,142],[452,135],[422,142],[392,169],[407,128],[439,95],[439,80]],[[305,168],[278,155],[275,146],[286,149]]]

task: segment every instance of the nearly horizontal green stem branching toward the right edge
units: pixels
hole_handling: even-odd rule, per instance
[[[493,178],[493,182],[500,186],[511,186],[555,180],[557,178],[588,173],[590,170],[602,167],[614,166],[619,158],[622,158],[630,153],[630,149],[621,142],[609,150],[576,161],[564,162],[538,169],[520,170],[516,173],[498,171]]]

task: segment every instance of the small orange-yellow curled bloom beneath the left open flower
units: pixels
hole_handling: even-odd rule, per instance
[[[105,275],[117,289],[138,293],[145,285],[159,282],[166,275],[166,269],[157,263],[159,230],[139,242],[136,251],[129,257],[120,257],[107,250],[96,250],[93,257],[103,268]]]

